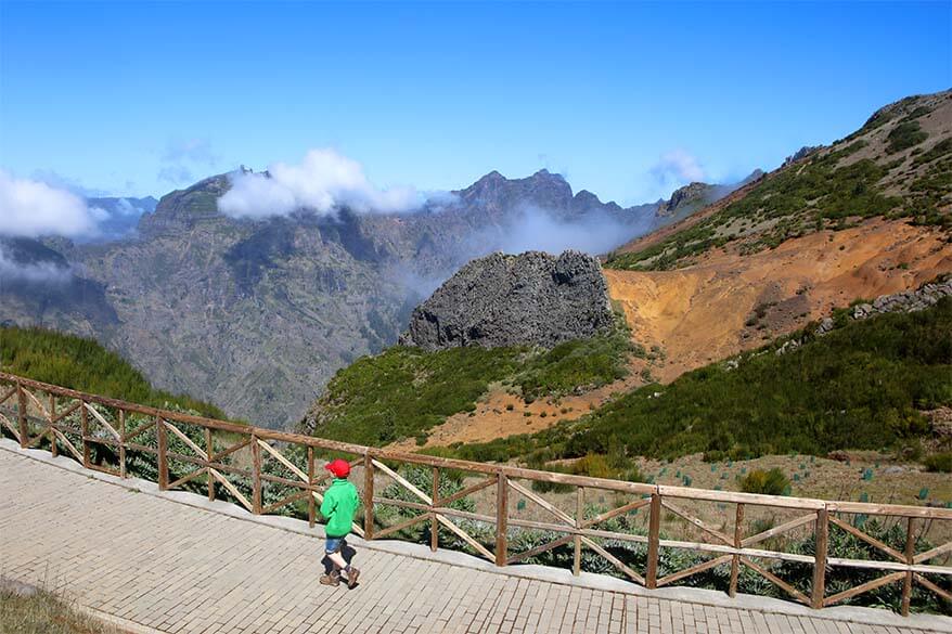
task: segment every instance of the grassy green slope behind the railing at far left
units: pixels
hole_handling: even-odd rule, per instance
[[[210,403],[154,389],[128,361],[97,341],[54,331],[0,327],[0,368],[93,394],[226,417]]]

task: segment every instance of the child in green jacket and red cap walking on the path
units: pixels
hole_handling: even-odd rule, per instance
[[[343,570],[347,574],[347,587],[353,587],[357,585],[360,570],[344,559],[343,552],[347,545],[345,539],[353,523],[353,514],[360,505],[360,496],[357,494],[357,487],[347,480],[347,476],[350,475],[350,465],[347,461],[337,458],[327,463],[324,468],[334,474],[334,481],[324,492],[324,502],[321,503],[321,515],[327,519],[324,528],[327,535],[324,552],[334,565],[334,569],[321,575],[321,583],[339,585]]]

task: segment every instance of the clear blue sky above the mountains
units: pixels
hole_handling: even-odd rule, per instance
[[[950,7],[0,0],[0,168],[160,195],[332,147],[377,185],[545,167],[634,204],[949,88]]]

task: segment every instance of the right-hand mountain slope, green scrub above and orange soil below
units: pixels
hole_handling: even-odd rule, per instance
[[[808,150],[608,258],[633,336],[667,353],[661,380],[952,271],[952,92]]]

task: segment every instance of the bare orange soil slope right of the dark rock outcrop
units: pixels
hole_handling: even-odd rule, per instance
[[[670,381],[857,298],[916,288],[950,271],[952,244],[940,231],[872,220],[750,256],[718,250],[677,271],[606,270],[605,277],[633,339],[665,350],[655,376]],[[767,307],[763,316],[750,323],[758,306]]]

